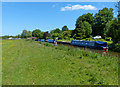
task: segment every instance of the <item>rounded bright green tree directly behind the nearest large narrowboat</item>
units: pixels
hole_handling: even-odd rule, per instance
[[[92,33],[92,26],[86,21],[84,22],[80,21],[75,28],[74,38],[79,37],[79,39],[83,39],[85,37],[89,37],[91,33]]]

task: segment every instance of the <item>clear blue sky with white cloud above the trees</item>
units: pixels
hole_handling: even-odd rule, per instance
[[[115,9],[115,2],[3,2],[2,35],[18,35],[23,29],[44,32],[64,25],[72,30],[79,16],[104,7]]]

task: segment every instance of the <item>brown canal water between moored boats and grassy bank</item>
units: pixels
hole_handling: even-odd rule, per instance
[[[59,44],[59,45],[61,45],[61,44]],[[84,49],[84,47],[71,46],[70,44],[62,44],[62,45],[66,45],[66,46],[70,46],[70,47],[74,47],[74,48]],[[88,51],[91,51],[91,52],[96,52],[96,53],[99,53],[99,54],[104,54],[104,53],[105,53],[103,50],[97,50],[97,49],[85,48],[85,50],[88,50]],[[108,55],[108,56],[115,56],[115,57],[120,58],[120,53],[118,53],[118,52],[113,52],[113,51],[111,51],[111,50],[108,50],[107,55]]]

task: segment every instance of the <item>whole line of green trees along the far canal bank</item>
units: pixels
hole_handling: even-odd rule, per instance
[[[120,16],[113,17],[112,8],[103,8],[99,10],[95,15],[91,13],[83,14],[76,20],[75,29],[68,29],[67,25],[62,29],[56,28],[48,32],[42,32],[40,29],[35,29],[32,32],[23,30],[21,34],[15,37],[28,38],[37,37],[39,39],[84,39],[90,38],[96,35],[111,37],[114,43],[120,41]],[[9,36],[4,36],[9,37]]]

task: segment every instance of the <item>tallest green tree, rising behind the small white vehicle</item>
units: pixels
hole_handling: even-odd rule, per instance
[[[110,8],[103,8],[99,10],[98,13],[95,15],[95,27],[93,28],[94,34],[93,35],[101,35],[104,37],[105,25],[107,22],[113,19],[113,9]]]

